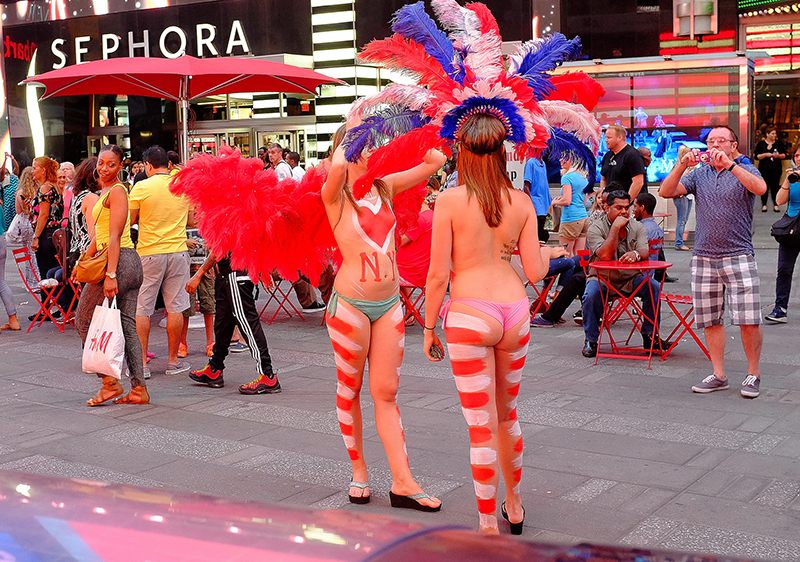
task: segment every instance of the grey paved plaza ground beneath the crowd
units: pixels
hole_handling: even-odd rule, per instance
[[[768,231],[777,217],[756,214],[764,313],[774,299],[777,252]],[[688,294],[690,257],[667,249],[671,274],[679,278],[667,291]],[[19,302],[29,301],[10,255],[6,275]],[[595,366],[581,357],[583,332],[571,321],[534,331],[519,400],[526,446],[523,538],[800,559],[798,295],[795,283],[788,325],[764,327],[764,382],[756,400],[742,399],[736,388],[746,363],[734,331],[726,353],[732,388],[712,395],[690,391],[711,371],[688,340],[648,370],[609,359]],[[20,317],[33,311],[31,303],[23,305]],[[238,394],[236,386],[254,374],[245,354],[230,358],[223,389],[165,376],[166,338],[154,329],[153,404],[145,407],[84,405],[97,379],[80,372],[73,329],[5,332],[0,469],[477,526],[455,386],[447,362],[424,358],[419,327],[407,334],[399,402],[414,474],[444,508],[418,514],[389,507],[390,478],[366,392],[373,501],[347,503],[349,461],[320,319],[266,327],[284,388],[273,396]],[[663,323],[673,325],[669,313]],[[202,330],[190,330],[193,366],[205,363],[204,347]]]

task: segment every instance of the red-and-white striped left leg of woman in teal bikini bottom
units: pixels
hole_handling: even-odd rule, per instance
[[[359,394],[366,350],[358,342],[360,331],[369,329],[365,318],[340,304],[336,316],[327,317],[328,335],[336,362],[336,418],[352,461],[362,461]]]

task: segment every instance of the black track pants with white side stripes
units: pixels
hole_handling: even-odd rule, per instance
[[[238,327],[239,333],[250,346],[250,354],[256,360],[258,372],[272,378],[272,359],[258,318],[255,290],[255,285],[244,273],[234,271],[217,276],[214,284],[214,300],[217,305],[214,318],[214,355],[209,361],[212,369],[221,371],[225,368],[225,357],[228,356],[233,329]]]

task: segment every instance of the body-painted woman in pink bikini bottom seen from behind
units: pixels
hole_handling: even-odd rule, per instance
[[[516,405],[530,316],[511,254],[519,247],[525,274],[538,282],[547,272],[550,253],[540,250],[530,198],[514,190],[508,179],[505,137],[503,123],[485,113],[465,119],[456,133],[462,183],[436,200],[425,302],[424,351],[431,361],[440,361],[434,327],[450,281],[444,332],[469,427],[480,530],[487,534],[498,532],[501,472],[506,486],[501,512],[512,533],[522,532],[524,519],[519,489],[523,443]]]

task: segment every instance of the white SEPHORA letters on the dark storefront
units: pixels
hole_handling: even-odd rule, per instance
[[[128,31],[125,36],[103,33],[99,37],[79,35],[70,40],[59,37],[50,43],[49,51],[54,57],[54,69],[112,57],[174,59],[186,54],[197,57],[251,54],[247,34],[238,19],[221,30],[210,23],[198,23],[193,29],[170,25],[161,30]]]

